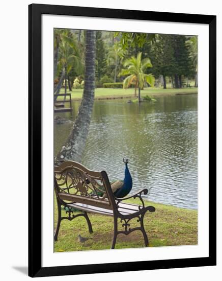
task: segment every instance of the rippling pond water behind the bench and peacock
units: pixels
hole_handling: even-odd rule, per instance
[[[156,103],[95,101],[82,164],[105,170],[109,180],[124,178],[122,158],[129,159],[133,189],[147,188],[150,201],[183,208],[198,207],[198,95],[156,98]],[[57,115],[74,120],[73,112]],[[54,127],[54,153],[72,123]]]

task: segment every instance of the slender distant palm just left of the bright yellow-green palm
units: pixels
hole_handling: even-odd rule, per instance
[[[119,42],[115,42],[108,53],[109,64],[115,65],[114,83],[117,82],[117,68],[121,59],[124,57],[124,50]]]

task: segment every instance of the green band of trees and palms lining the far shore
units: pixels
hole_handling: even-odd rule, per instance
[[[86,31],[54,30],[54,93],[83,88],[85,48]],[[181,88],[189,79],[198,85],[196,36],[96,31],[95,52],[96,87],[124,82],[140,94],[146,85]]]

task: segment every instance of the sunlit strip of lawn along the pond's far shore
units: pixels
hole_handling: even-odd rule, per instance
[[[73,89],[71,91],[71,97],[72,100],[80,100],[82,97],[82,89]],[[70,92],[70,91],[68,91]],[[141,91],[142,97],[149,95],[151,97],[160,97],[160,96],[172,96],[172,95],[187,95],[191,93],[197,93],[198,88],[191,87],[191,88],[169,88],[169,89],[163,89],[161,88],[144,88],[144,90]],[[61,90],[61,93],[64,93],[64,89]],[[134,98],[134,89],[113,89],[113,88],[96,88],[95,89],[95,99],[132,99]],[[63,97],[59,98],[60,100],[63,100]]]

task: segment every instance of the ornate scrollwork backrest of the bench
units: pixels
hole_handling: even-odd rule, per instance
[[[65,161],[54,167],[54,189],[58,200],[116,208],[106,172],[90,171],[74,161]],[[106,198],[101,196],[104,192]]]

